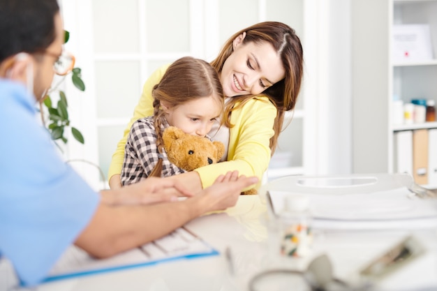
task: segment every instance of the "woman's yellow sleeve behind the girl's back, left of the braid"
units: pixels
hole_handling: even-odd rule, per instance
[[[162,66],[155,70],[154,73],[147,79],[142,87],[142,94],[138,104],[135,106],[135,110],[133,111],[133,117],[131,121],[129,121],[128,125],[124,129],[123,137],[117,144],[117,149],[114,154],[112,154],[112,160],[110,163],[109,171],[108,171],[108,181],[114,174],[121,173],[121,167],[123,166],[124,160],[124,147],[126,145],[126,141],[128,139],[129,131],[131,130],[132,124],[140,118],[149,117],[153,114],[153,97],[151,96],[151,90],[154,88],[159,81],[161,81],[165,71],[167,70],[170,64]]]

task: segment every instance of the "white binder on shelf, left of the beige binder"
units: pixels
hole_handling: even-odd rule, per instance
[[[394,133],[394,171],[413,176],[413,131]]]

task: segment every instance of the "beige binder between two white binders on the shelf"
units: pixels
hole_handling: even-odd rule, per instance
[[[417,184],[428,184],[428,130],[413,130],[413,178]]]

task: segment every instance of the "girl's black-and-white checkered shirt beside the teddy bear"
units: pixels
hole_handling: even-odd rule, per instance
[[[168,127],[163,124],[162,130]],[[158,162],[158,148],[156,147],[156,132],[153,117],[145,117],[135,121],[128,135],[124,149],[123,168],[121,169],[121,184],[136,183],[149,177],[151,170]],[[163,152],[162,177],[173,176],[186,172],[168,161]]]

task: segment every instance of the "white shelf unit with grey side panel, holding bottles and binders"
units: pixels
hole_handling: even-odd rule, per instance
[[[394,133],[437,128],[436,122],[391,123],[394,94],[404,103],[413,98],[437,101],[436,15],[436,0],[352,1],[353,172],[393,172]],[[392,61],[393,24],[429,24],[434,59]]]

